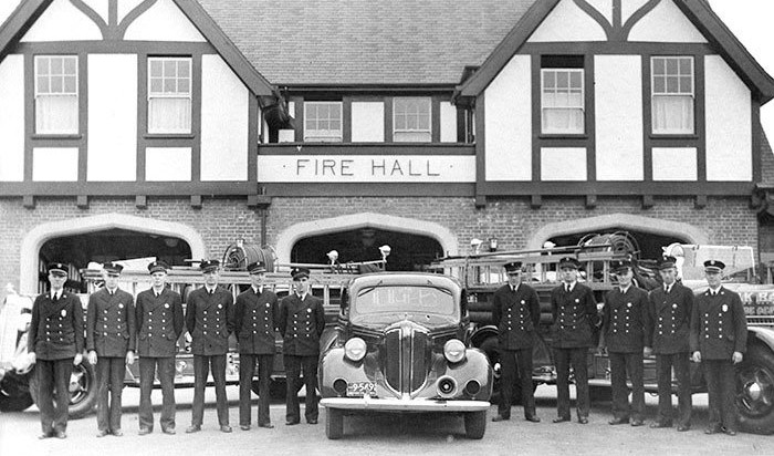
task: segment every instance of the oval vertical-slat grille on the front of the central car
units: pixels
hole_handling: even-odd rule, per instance
[[[430,344],[427,330],[410,321],[387,330],[381,365],[387,384],[393,390],[410,395],[425,384]]]

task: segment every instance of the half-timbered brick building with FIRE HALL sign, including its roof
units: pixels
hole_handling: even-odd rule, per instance
[[[280,262],[387,243],[396,270],[617,230],[767,260],[772,97],[704,0],[23,0],[0,280],[237,239]]]

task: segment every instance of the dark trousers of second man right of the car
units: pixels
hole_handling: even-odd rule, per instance
[[[587,348],[554,349],[556,363],[557,412],[562,418],[569,419],[569,366],[575,372],[575,391],[578,417],[588,417],[588,370],[586,366]]]

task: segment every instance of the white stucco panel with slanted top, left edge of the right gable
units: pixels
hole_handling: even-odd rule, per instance
[[[514,55],[484,92],[487,180],[532,180],[532,63]]]

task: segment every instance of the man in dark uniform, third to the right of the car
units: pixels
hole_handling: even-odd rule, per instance
[[[610,360],[613,388],[611,425],[641,426],[645,419],[645,381],[642,379],[642,352],[645,350],[645,313],[648,309],[648,292],[635,287],[630,261],[613,261],[613,272],[618,277],[618,287],[605,294],[603,331],[599,348],[605,349]],[[627,374],[631,381],[631,405]]]

